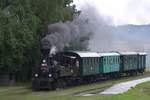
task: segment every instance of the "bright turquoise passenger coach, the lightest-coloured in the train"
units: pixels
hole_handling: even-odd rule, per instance
[[[119,53],[99,53],[99,70],[100,73],[114,73],[120,71],[120,54]]]

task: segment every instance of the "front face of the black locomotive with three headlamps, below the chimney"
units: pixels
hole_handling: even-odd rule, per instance
[[[53,87],[53,69],[48,62],[43,59],[41,65],[33,74],[32,87],[34,90],[38,89],[52,89]]]

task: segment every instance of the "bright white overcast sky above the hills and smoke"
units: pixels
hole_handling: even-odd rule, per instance
[[[94,6],[98,13],[112,18],[115,25],[149,24],[150,0],[74,0],[77,9]]]

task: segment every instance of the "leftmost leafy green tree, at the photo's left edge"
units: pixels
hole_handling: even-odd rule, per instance
[[[28,2],[14,0],[11,3],[1,10],[0,17],[1,72],[8,74],[31,67],[30,52],[36,53],[34,46],[39,38],[36,35],[39,19],[27,8]]]

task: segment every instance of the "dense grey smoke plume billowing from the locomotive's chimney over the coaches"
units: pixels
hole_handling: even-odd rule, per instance
[[[81,13],[73,21],[58,22],[48,25],[48,33],[42,39],[42,48],[54,51],[88,49],[92,38],[93,26],[91,21]],[[51,52],[51,51],[50,51]]]

